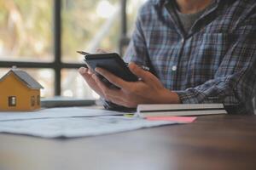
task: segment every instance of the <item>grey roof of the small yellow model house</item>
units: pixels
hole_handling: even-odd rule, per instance
[[[9,74],[14,73],[16,77],[20,79],[21,82],[24,82],[28,88],[33,88],[33,89],[40,89],[44,88],[39,82],[37,82],[35,79],[33,79],[29,74],[26,73],[26,71],[20,71],[16,69],[10,70],[6,75],[4,75],[1,79],[0,82],[3,81],[5,77],[8,77]]]

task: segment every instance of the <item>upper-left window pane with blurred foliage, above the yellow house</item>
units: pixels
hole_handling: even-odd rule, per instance
[[[0,60],[53,60],[52,3],[0,1]]]

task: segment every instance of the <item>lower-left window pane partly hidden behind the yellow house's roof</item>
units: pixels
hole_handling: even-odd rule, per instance
[[[37,80],[44,89],[41,89],[41,97],[54,96],[54,71],[51,69],[22,69],[26,71],[31,77]],[[3,77],[9,69],[0,69],[0,78]]]

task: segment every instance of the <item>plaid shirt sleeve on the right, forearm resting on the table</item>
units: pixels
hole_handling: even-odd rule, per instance
[[[176,91],[183,104],[223,103],[228,112],[252,114],[256,91],[256,14],[237,26],[236,41],[224,55],[214,79]]]

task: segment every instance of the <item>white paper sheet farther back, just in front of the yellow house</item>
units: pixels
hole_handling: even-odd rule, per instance
[[[62,107],[42,109],[31,112],[0,112],[0,122],[10,120],[26,120],[57,117],[85,117],[85,116],[110,116],[124,115],[123,112],[87,109],[83,107]]]

